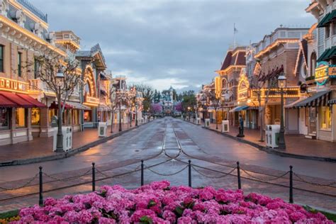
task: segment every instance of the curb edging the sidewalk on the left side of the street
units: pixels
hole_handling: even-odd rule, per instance
[[[148,121],[147,123],[150,123],[150,122],[151,121]],[[74,150],[69,150],[68,152],[60,152],[60,153],[57,153],[56,155],[48,155],[45,157],[35,157],[35,158],[29,158],[29,159],[18,159],[18,160],[12,160],[8,162],[0,162],[0,167],[9,167],[9,166],[16,166],[16,165],[23,165],[23,164],[33,164],[33,163],[38,163],[38,162],[46,162],[46,161],[51,161],[51,160],[56,160],[56,159],[65,159],[67,157],[72,157],[73,155],[76,155],[79,152],[84,152],[86,150],[89,150],[89,148],[91,147],[100,145],[103,142],[107,142],[108,140],[119,137],[123,135],[124,133],[128,133],[130,130],[135,130],[136,128],[139,128],[142,125],[146,125],[147,123],[138,125],[138,127],[129,128],[128,130],[123,130],[121,132],[115,133],[108,137],[99,138],[98,140],[95,140],[94,142],[89,142],[86,145],[77,147]]]

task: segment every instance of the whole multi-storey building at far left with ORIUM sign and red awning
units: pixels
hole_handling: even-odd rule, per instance
[[[50,135],[48,91],[35,55],[64,59],[47,15],[28,1],[0,1],[0,145]]]

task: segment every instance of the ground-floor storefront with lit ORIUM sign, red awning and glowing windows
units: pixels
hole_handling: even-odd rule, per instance
[[[46,108],[28,95],[28,83],[0,78],[0,145],[33,140],[32,128],[40,125]]]

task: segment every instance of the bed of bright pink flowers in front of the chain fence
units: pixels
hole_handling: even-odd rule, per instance
[[[89,194],[47,198],[13,223],[332,223],[321,213],[260,194],[153,182],[135,190],[102,186]]]

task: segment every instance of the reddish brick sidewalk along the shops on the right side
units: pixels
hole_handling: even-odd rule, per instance
[[[192,121],[192,120],[191,120]],[[204,126],[202,122],[201,125]],[[218,124],[218,130],[215,129],[215,123],[211,123],[210,130],[221,133],[222,125]],[[230,126],[229,133],[221,133],[229,138],[234,138],[241,142],[245,142],[259,150],[264,150],[269,153],[281,155],[285,157],[296,157],[301,159],[313,159],[327,162],[336,162],[336,142],[327,142],[323,140],[311,140],[305,138],[303,135],[285,135],[286,150],[279,150],[266,147],[266,142],[259,142],[259,129],[244,129],[244,138],[237,138],[238,128]],[[264,136],[265,140],[265,136]]]

